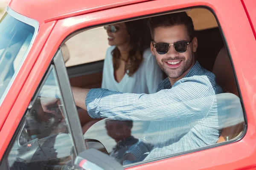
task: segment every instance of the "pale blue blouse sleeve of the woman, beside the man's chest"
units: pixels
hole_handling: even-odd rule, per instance
[[[147,54],[146,66],[146,82],[148,87],[148,93],[152,94],[157,91],[157,85],[163,80],[163,71],[158,66],[157,61],[151,51]]]

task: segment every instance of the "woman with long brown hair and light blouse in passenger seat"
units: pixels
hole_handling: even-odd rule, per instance
[[[104,27],[111,47],[104,61],[102,88],[137,94],[157,91],[163,74],[150,48],[145,48],[142,23],[135,20]]]

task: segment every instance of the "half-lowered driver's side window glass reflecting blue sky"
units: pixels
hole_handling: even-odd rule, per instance
[[[181,121],[168,120],[167,115],[166,120],[162,121],[150,116],[144,119],[152,121],[119,121],[107,118],[88,128],[84,133],[84,139],[98,140],[105,146],[109,156],[127,165],[239,138],[244,125],[241,100],[231,93],[217,94],[213,97],[216,99],[216,114],[209,112],[200,120],[195,115]],[[177,107],[182,105],[183,101],[176,103]],[[203,111],[196,113],[200,115],[201,112]],[[169,116],[172,116],[172,110]],[[131,154],[136,158],[133,159]]]

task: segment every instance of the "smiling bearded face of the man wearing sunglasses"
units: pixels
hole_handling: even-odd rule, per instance
[[[164,42],[174,44],[175,42],[186,41],[189,42],[190,38],[186,27],[184,25],[172,27],[157,27],[154,29],[154,44]],[[156,48],[151,44],[151,52],[156,57],[157,63],[160,68],[167,74],[169,78],[176,79],[185,76],[186,73],[192,68],[195,62],[194,52],[197,49],[197,39],[194,38],[188,45],[187,51],[178,53],[175,51],[174,46],[170,46],[166,54],[158,54]]]

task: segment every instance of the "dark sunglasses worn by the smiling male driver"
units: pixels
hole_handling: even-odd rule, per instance
[[[189,42],[180,41],[180,42],[175,42],[174,44],[168,44],[164,42],[153,44],[153,41],[154,40],[151,41],[153,47],[156,48],[157,53],[161,55],[166,54],[169,51],[171,45],[174,47],[175,51],[177,51],[178,53],[185,53],[188,49],[188,45],[190,44],[190,42],[192,42],[192,40],[190,40]]]

